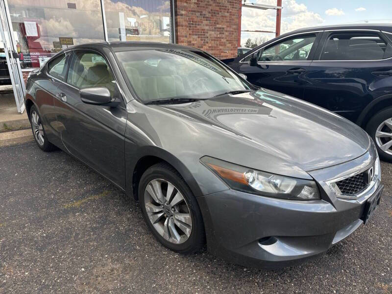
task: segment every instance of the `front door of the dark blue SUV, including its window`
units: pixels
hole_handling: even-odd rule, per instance
[[[247,80],[256,86],[302,98],[319,34],[295,34],[261,47],[256,51],[257,65],[251,65],[250,54],[240,61],[238,73],[244,73]]]

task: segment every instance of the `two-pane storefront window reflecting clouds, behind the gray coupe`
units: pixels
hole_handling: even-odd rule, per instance
[[[169,0],[104,0],[108,41],[171,41]],[[69,46],[105,40],[100,0],[8,0],[22,68]]]

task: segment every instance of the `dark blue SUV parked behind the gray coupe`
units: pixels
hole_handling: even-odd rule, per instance
[[[300,29],[222,61],[254,85],[357,123],[392,162],[392,25]]]

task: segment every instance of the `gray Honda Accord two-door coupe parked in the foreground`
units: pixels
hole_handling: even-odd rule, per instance
[[[230,262],[285,267],[324,254],[380,203],[365,131],[255,88],[198,49],[65,49],[30,74],[25,105],[38,147],[64,150],[133,196],[175,252],[206,243]]]

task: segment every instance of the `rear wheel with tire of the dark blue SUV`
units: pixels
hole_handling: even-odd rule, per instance
[[[366,131],[373,139],[380,158],[392,162],[392,107],[376,113],[369,120]]]

